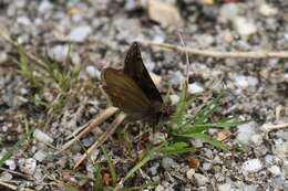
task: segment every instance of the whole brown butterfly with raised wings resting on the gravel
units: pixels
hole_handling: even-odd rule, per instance
[[[127,114],[131,119],[156,123],[172,113],[172,109],[164,105],[162,96],[142,61],[136,42],[127,52],[124,68],[104,68],[101,79],[103,89],[112,104]]]

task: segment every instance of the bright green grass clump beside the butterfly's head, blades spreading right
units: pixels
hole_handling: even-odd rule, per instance
[[[212,117],[219,108],[223,95],[213,98],[206,103],[204,107],[198,109],[193,117],[187,114],[187,107],[196,100],[196,97],[187,99],[187,86],[183,85],[181,99],[176,106],[175,113],[172,115],[171,120],[165,125],[168,138],[163,139],[158,146],[150,147],[138,159],[137,163],[126,173],[123,182],[138,171],[145,163],[154,159],[160,153],[162,155],[179,155],[184,152],[194,151],[195,148],[189,144],[192,139],[199,139],[207,142],[213,147],[228,151],[229,147],[218,141],[216,138],[207,134],[209,128],[225,128],[229,129],[237,127],[245,123],[237,120],[233,117],[223,117],[218,121],[213,121]]]

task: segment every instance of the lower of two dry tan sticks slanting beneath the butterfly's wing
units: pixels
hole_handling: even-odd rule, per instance
[[[110,136],[113,135],[113,132],[116,130],[116,128],[123,123],[123,120],[126,118],[126,115],[124,113],[120,113],[120,115],[117,115],[117,117],[114,119],[114,121],[112,123],[112,127],[109,128],[100,138],[99,140],[96,140],[89,149],[88,151],[82,156],[81,159],[79,159],[75,163],[75,166],[73,167],[73,169],[75,170],[90,155],[91,152],[97,148],[99,146],[101,146],[103,142],[105,142],[107,140],[107,138]]]

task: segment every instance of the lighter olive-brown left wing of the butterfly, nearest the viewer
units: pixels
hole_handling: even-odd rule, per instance
[[[103,89],[115,107],[131,118],[141,119],[151,115],[152,105],[135,82],[121,70],[105,68],[101,75]]]

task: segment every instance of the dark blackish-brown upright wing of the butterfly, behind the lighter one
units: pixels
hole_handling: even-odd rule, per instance
[[[162,96],[142,61],[140,46],[136,42],[131,45],[127,52],[124,74],[130,76],[137,84],[152,103],[156,105],[163,104]]]

